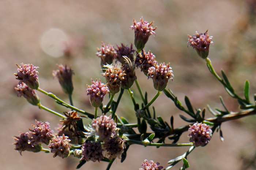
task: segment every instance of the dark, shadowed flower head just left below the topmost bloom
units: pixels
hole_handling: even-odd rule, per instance
[[[133,62],[133,48],[132,48],[132,44],[131,47],[129,48],[128,45],[125,46],[123,43],[121,43],[121,46],[117,46],[116,49],[116,54],[115,54],[115,58],[116,60],[118,60],[120,63],[124,64],[126,61],[124,60],[123,56],[127,56],[132,62]]]

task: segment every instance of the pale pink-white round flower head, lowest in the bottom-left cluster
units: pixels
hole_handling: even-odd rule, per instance
[[[60,156],[62,159],[67,158],[69,156],[69,149],[71,144],[69,144],[69,139],[67,136],[63,134],[63,136],[53,137],[50,140],[48,147],[50,148],[50,152],[53,153],[53,158],[57,155]]]

